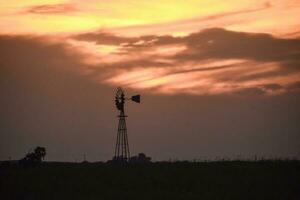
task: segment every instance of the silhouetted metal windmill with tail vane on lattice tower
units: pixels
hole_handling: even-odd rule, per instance
[[[128,145],[128,136],[127,136],[127,128],[126,128],[126,120],[127,117],[124,111],[124,105],[126,100],[131,100],[136,103],[140,103],[140,95],[134,95],[131,98],[126,98],[124,91],[122,88],[118,88],[115,97],[115,104],[117,109],[120,111],[118,115],[119,125],[118,125],[118,134],[117,141],[115,146],[115,156],[113,160],[115,161],[129,161],[130,159],[130,151]]]

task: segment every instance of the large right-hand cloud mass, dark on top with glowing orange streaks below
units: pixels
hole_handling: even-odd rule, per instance
[[[134,88],[154,88],[162,93],[274,94],[299,80],[297,38],[212,28],[182,37],[120,37],[100,32],[73,39],[118,47],[114,53],[120,57],[118,61],[98,64],[110,71],[109,83]],[[181,86],[176,84],[180,80]]]

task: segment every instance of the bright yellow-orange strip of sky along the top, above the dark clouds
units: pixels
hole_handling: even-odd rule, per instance
[[[0,27],[4,33],[104,29],[134,35],[187,34],[217,26],[284,35],[299,31],[299,6],[297,0],[10,0],[1,3]]]

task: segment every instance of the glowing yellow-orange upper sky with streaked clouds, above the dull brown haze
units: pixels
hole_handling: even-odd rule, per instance
[[[298,70],[286,70],[300,63],[294,56],[300,52],[299,18],[297,0],[0,4],[1,34],[63,41],[70,52],[82,55],[83,76],[163,94],[212,95],[253,88],[267,95],[286,92],[300,81]]]

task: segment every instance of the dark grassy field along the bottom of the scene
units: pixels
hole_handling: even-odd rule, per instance
[[[299,161],[0,168],[0,199],[300,199]]]

